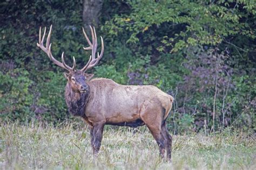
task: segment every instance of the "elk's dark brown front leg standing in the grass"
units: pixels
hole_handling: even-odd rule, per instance
[[[97,155],[99,152],[100,144],[102,143],[102,133],[105,123],[95,123],[93,124],[91,133],[91,145],[93,148],[93,154]]]

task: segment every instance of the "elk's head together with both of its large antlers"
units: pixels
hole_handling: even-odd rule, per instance
[[[44,29],[44,34],[43,34],[42,39],[41,39],[41,27],[40,27],[39,43],[37,43],[37,46],[40,47],[49,56],[49,58],[53,61],[53,63],[55,63],[59,67],[62,67],[64,69],[68,70],[68,73],[64,73],[64,76],[66,77],[66,79],[68,79],[68,83],[70,84],[70,87],[73,92],[87,93],[89,91],[89,87],[87,86],[87,80],[90,80],[92,78],[93,74],[86,74],[85,72],[86,72],[86,70],[89,70],[90,68],[96,66],[97,63],[99,62],[99,60],[103,56],[104,43],[103,43],[102,37],[100,36],[100,38],[102,40],[102,51],[100,52],[100,55],[99,55],[99,53],[97,53],[97,58],[95,58],[95,54],[96,54],[97,46],[98,46],[95,27],[93,27],[93,29],[92,29],[92,27],[90,26],[91,34],[92,34],[92,42],[87,37],[87,35],[84,31],[84,28],[83,28],[84,36],[89,44],[89,47],[84,47],[84,49],[91,50],[92,54],[91,54],[90,59],[87,62],[87,64],[82,69],[77,70],[75,57],[73,57],[73,66],[72,67],[66,65],[66,63],[64,61],[64,52],[62,53],[62,62],[59,62],[58,60],[53,58],[52,53],[51,53],[51,44],[50,44],[51,29],[52,29],[52,25],[50,27],[50,31],[49,31],[49,34],[48,34],[48,37],[46,40],[46,47],[45,47],[44,46],[44,37],[45,37],[45,33],[46,33],[46,27]]]

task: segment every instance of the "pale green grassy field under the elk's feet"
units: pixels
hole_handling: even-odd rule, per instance
[[[172,162],[159,159],[146,127],[106,126],[97,158],[90,134],[79,123],[57,127],[1,124],[1,169],[256,169],[256,144],[243,133],[173,136]]]

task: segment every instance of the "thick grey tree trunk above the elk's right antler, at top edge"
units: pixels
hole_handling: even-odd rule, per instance
[[[99,24],[99,15],[102,10],[103,0],[84,0],[83,22],[87,30],[88,26],[97,27]]]

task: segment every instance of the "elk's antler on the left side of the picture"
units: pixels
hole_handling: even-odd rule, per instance
[[[45,37],[45,33],[46,33],[46,27],[44,29],[44,34],[43,34],[43,38],[41,39],[41,27],[39,29],[39,43],[37,43],[37,46],[39,48],[41,48],[51,59],[51,61],[53,61],[53,63],[55,63],[56,65],[58,65],[59,67],[62,67],[66,70],[69,70],[69,72],[73,72],[75,70],[76,67],[76,60],[75,57],[73,56],[73,67],[69,67],[68,65],[66,65],[65,61],[64,61],[64,52],[62,53],[62,62],[59,62],[58,60],[56,60],[55,58],[53,58],[52,54],[51,54],[51,44],[50,44],[50,38],[51,38],[51,28],[52,25],[50,27],[50,31],[46,40],[46,47],[44,46],[44,37]]]

